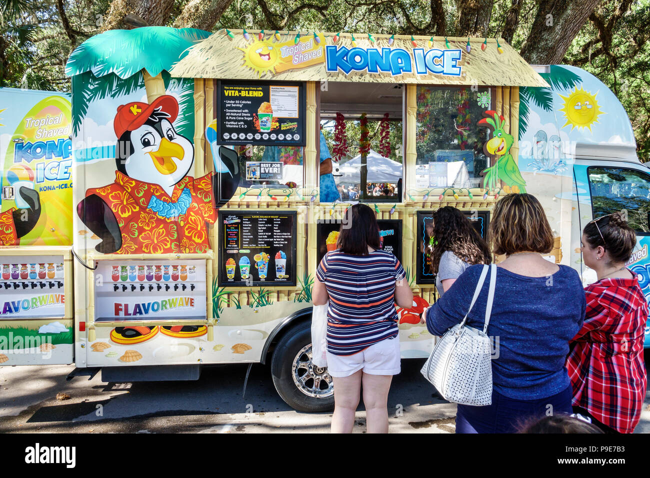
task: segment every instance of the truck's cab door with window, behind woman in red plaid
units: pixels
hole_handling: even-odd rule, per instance
[[[577,159],[573,168],[578,191],[579,227],[592,219],[616,211],[627,211],[627,221],[636,232],[636,247],[627,263],[639,276],[639,285],[650,299],[650,170],[626,161],[593,161]],[[582,266],[582,280],[588,284],[596,279],[595,272]],[[648,336],[650,327],[646,326]],[[650,347],[650,341],[645,341]]]

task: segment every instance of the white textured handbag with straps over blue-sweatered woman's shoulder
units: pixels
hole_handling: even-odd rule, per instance
[[[483,330],[465,325],[476,298],[483,288],[487,271],[491,270]],[[487,325],[492,312],[497,266],[484,265],[469,310],[460,324],[454,325],[435,344],[421,373],[445,400],[461,405],[491,405],[492,364],[491,342]]]

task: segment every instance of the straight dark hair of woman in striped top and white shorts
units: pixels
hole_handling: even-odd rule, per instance
[[[341,224],[337,248],[345,254],[367,256],[368,246],[380,248],[379,225],[374,211],[365,204],[348,207]]]

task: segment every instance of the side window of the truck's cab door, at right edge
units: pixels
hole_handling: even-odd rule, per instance
[[[636,232],[650,232],[650,175],[626,168],[590,167],[587,170],[593,217],[625,209]]]

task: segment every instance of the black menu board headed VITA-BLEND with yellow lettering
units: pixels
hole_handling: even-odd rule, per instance
[[[217,144],[305,146],[304,83],[219,81]]]

